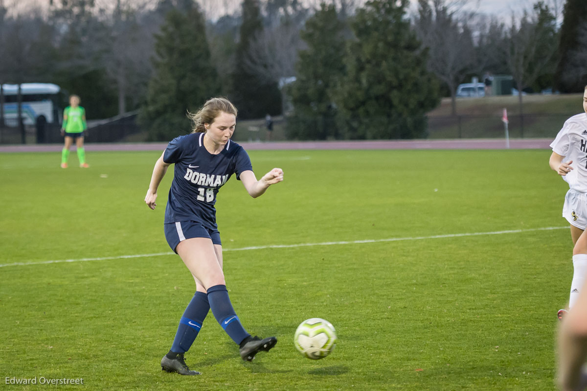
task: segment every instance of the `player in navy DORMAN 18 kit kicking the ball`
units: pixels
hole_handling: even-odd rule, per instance
[[[274,168],[257,180],[251,160],[241,146],[230,140],[236,126],[237,109],[225,98],[212,98],[195,114],[191,134],[176,137],[155,163],[145,203],[156,207],[157,188],[170,164],[175,164],[173,182],[165,210],[165,237],[195,280],[196,292],[180,319],[171,349],[161,359],[161,369],[181,375],[200,375],[190,370],[184,353],[198,335],[202,322],[212,314],[232,341],[240,346],[243,360],[268,351],[277,339],[251,336],[232,308],[222,272],[222,245],[214,204],[218,189],[232,174],[241,180],[251,197],[259,197],[272,184],[284,180]]]

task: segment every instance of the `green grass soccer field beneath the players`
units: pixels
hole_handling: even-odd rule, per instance
[[[88,147],[87,170],[0,154],[2,389],[556,389],[572,263],[568,229],[542,229],[567,225],[549,151],[249,154],[285,181],[220,191],[225,274],[245,328],[279,342],[243,362],[210,314],[195,377],[159,366],[194,291],[163,235],[171,171],[157,210],[143,203],[160,153]],[[318,361],[292,343],[312,317],[339,338]],[[35,376],[84,385],[5,384]]]

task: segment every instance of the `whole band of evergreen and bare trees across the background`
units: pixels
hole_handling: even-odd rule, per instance
[[[285,114],[289,139],[410,139],[441,96],[455,114],[473,76],[587,84],[585,0],[508,21],[467,0],[47,1],[23,14],[0,0],[0,83],[56,83],[89,119],[137,110],[150,140],[188,133],[187,110],[218,95],[241,119]]]

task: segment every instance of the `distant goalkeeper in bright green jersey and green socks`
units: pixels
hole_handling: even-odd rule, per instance
[[[68,168],[69,149],[73,139],[75,139],[77,147],[79,166],[82,168],[90,167],[86,163],[86,150],[83,149],[83,132],[87,129],[86,110],[79,105],[79,102],[79,96],[72,95],[69,97],[69,106],[63,110],[61,135],[65,136],[65,146],[61,151],[61,168]]]

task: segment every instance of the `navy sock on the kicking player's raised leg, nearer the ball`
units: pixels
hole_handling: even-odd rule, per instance
[[[237,344],[250,334],[245,331],[232,308],[226,285],[214,285],[207,289],[210,309],[216,321],[220,323],[224,331]]]

